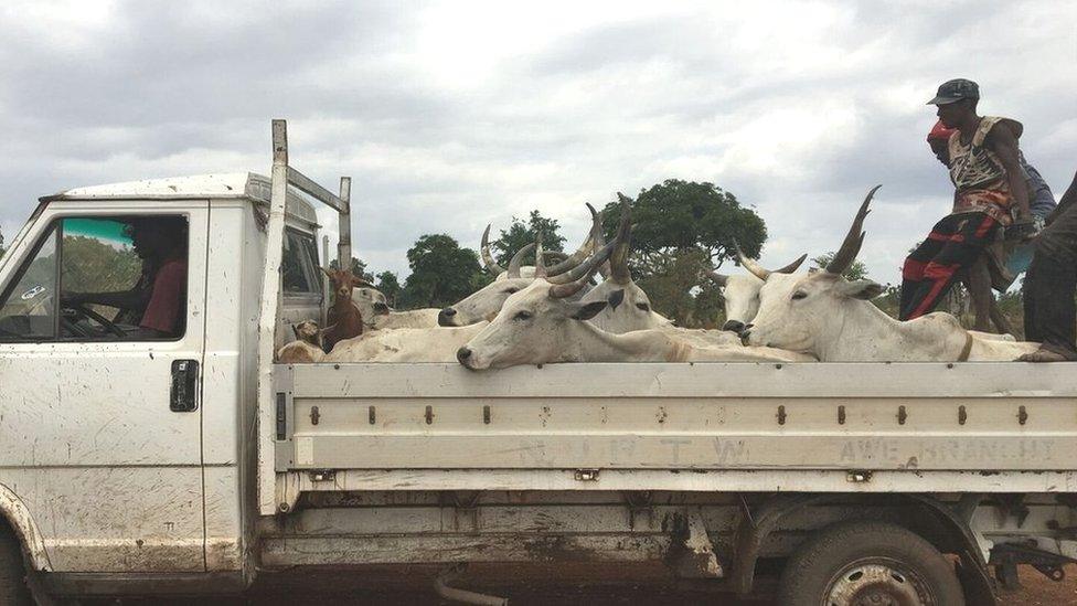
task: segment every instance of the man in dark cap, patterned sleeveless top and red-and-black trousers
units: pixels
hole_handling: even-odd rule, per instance
[[[1014,224],[1015,237],[1034,233],[1017,147],[1023,127],[978,115],[979,100],[979,85],[959,78],[942,83],[928,102],[938,107],[942,125],[957,130],[947,139],[953,206],[905,259],[902,320],[934,311],[1000,228]]]

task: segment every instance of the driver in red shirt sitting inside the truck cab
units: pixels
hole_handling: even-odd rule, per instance
[[[186,309],[186,222],[177,216],[138,217],[127,235],[142,259],[134,288],[117,293],[64,293],[68,306],[97,304],[119,308],[114,322],[135,325],[135,338],[170,338],[183,332]]]

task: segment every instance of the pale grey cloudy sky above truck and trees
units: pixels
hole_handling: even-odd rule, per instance
[[[1020,119],[1056,195],[1077,169],[1077,3],[20,2],[0,4],[0,227],[39,195],[266,172],[269,119],[323,183],[353,177],[355,249],[405,251],[668,178],[754,206],[781,265],[840,243],[896,281],[948,211],[924,103],[951,77]]]

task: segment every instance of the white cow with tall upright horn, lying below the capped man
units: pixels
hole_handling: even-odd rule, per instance
[[[883,291],[882,286],[841,276],[860,252],[867,205],[877,189],[864,199],[827,268],[787,275],[748,266],[766,284],[759,291],[759,312],[746,327],[746,341],[811,353],[824,362],[1014,360],[1035,351],[1037,343],[970,332],[949,313],[895,320],[870,302]]]

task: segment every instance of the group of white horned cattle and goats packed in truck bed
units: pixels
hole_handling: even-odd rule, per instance
[[[630,200],[621,200],[617,236],[606,243],[598,213],[571,255],[541,242],[518,251],[508,268],[493,262],[489,226],[482,257],[497,279],[441,310],[393,311],[384,295],[348,272],[327,272],[329,325],[295,327],[280,363],[459,362],[471,370],[556,362],[895,362],[1010,361],[1038,343],[969,331],[949,313],[898,321],[871,299],[882,287],[846,280],[864,241],[864,199],[833,261],[797,273],[804,256],[768,270],[739,254],[749,275],[711,278],[724,289],[723,330],[685,329],[655,312],[629,272]],[[535,266],[522,266],[534,253]],[[546,259],[555,259],[546,265]],[[593,286],[596,276],[601,278]]]

